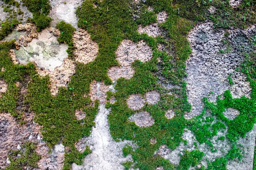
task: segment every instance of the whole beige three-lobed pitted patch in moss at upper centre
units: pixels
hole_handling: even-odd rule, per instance
[[[152,57],[152,50],[144,41],[136,43],[131,40],[123,40],[116,50],[116,59],[120,66],[109,68],[108,76],[111,80],[117,80],[120,77],[130,79],[134,74],[134,69],[131,68],[131,64],[136,59],[145,62]]]

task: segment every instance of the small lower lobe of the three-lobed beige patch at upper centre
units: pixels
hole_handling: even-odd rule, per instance
[[[134,69],[131,66],[114,66],[108,69],[108,77],[115,81],[121,77],[131,79],[134,75]]]

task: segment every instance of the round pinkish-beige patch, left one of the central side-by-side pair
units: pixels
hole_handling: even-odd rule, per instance
[[[127,99],[128,107],[132,110],[140,110],[145,105],[145,99],[140,94],[131,94]]]

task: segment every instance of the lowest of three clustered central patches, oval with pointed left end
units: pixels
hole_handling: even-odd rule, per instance
[[[154,118],[148,112],[141,111],[129,117],[130,122],[135,122],[139,127],[150,127],[154,125]]]

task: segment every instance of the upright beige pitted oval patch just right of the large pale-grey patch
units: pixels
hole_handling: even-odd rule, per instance
[[[73,42],[75,46],[74,55],[77,62],[87,64],[96,59],[99,46],[90,38],[90,34],[79,28],[73,35]]]

